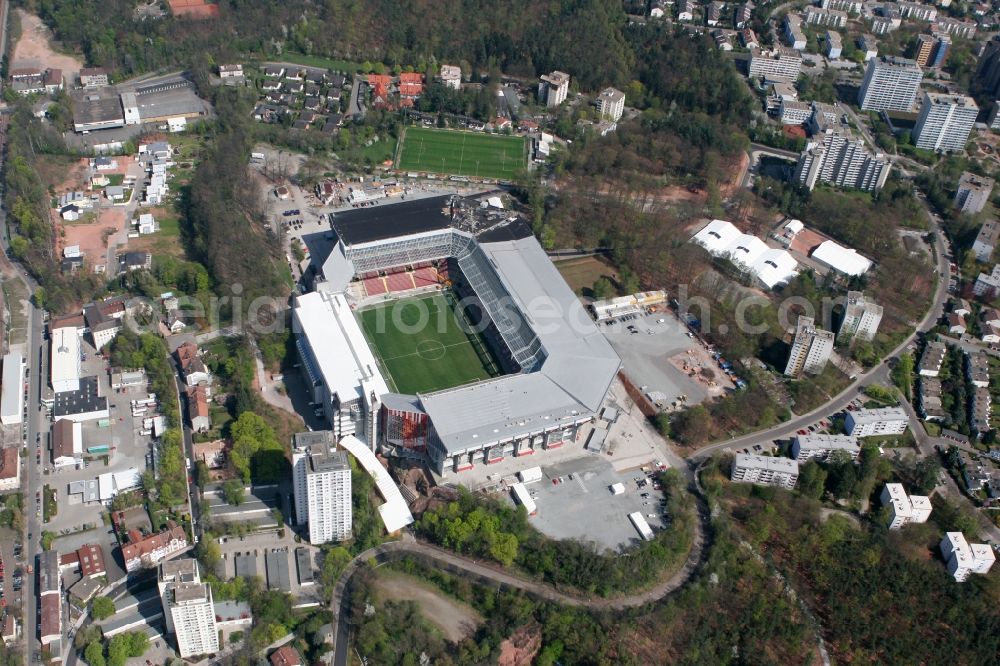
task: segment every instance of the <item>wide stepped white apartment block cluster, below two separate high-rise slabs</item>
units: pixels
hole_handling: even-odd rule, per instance
[[[885,185],[890,168],[885,155],[868,152],[849,130],[826,126],[799,155],[794,178],[810,190],[822,182],[874,192]]]

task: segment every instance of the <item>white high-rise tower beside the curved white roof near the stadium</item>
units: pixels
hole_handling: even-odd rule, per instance
[[[331,431],[295,435],[295,518],[298,525],[309,524],[312,544],[351,536],[351,465],[347,454],[333,447]]]

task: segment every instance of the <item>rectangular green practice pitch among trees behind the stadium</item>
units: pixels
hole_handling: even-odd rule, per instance
[[[524,168],[524,146],[520,136],[408,127],[399,139],[396,168],[506,180]]]

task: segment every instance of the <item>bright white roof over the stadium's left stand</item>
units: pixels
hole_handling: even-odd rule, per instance
[[[331,394],[342,402],[364,398],[362,381],[370,381],[378,395],[389,392],[343,294],[317,291],[299,296],[295,317],[316,362],[307,371],[322,376]]]

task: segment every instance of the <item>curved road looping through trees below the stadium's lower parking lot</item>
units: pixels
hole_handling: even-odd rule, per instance
[[[704,561],[707,552],[705,542],[708,536],[709,512],[708,506],[702,496],[694,494],[694,497],[697,502],[698,516],[697,520],[694,521],[694,538],[691,543],[691,550],[684,565],[670,578],[658,583],[656,586],[642,592],[621,597],[595,599],[593,597],[585,598],[576,594],[561,592],[548,583],[523,578],[512,574],[509,569],[504,569],[498,565],[456,555],[443,548],[438,548],[423,541],[417,541],[408,532],[404,534],[401,541],[392,541],[370,548],[351,560],[337,581],[336,587],[334,587],[333,598],[330,604],[334,616],[334,665],[346,666],[348,663],[347,651],[350,633],[350,595],[348,591],[354,574],[370,560],[385,562],[394,557],[414,554],[432,560],[434,565],[439,568],[452,572],[471,574],[480,582],[489,582],[499,586],[516,588],[541,599],[567,606],[589,608],[592,610],[636,608],[663,599],[672,592],[680,589],[694,576]]]

